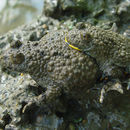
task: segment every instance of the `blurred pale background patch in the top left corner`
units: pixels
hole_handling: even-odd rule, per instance
[[[42,7],[43,0],[0,0],[0,35],[35,20]]]

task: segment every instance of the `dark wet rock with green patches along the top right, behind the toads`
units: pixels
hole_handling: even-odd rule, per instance
[[[116,23],[121,31],[129,26],[130,2],[127,0],[45,0],[44,14],[60,20],[66,19],[66,16],[73,16],[73,19],[98,24],[106,29],[110,29],[113,23]],[[123,23],[127,26],[123,26]]]

